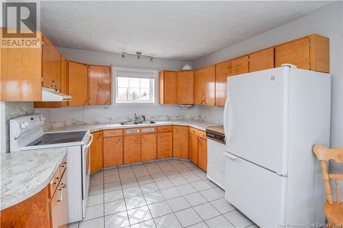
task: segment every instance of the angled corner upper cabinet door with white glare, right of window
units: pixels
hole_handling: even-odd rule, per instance
[[[215,105],[215,66],[207,66],[195,71],[194,77],[194,103]]]

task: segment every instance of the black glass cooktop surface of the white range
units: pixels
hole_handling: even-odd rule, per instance
[[[67,142],[81,142],[86,131],[68,131],[68,132],[53,132],[45,133],[36,140],[30,142],[26,147],[39,146],[47,144],[59,144]]]

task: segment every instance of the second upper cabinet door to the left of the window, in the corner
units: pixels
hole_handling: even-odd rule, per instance
[[[69,106],[88,104],[88,68],[86,64],[68,62]]]

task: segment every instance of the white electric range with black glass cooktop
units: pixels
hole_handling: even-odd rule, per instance
[[[29,151],[54,147],[68,147],[67,186],[69,223],[86,216],[91,175],[93,135],[86,131],[43,132],[45,118],[41,114],[20,116],[10,120],[10,151]]]

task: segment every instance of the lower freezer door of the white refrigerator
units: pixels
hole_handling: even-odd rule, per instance
[[[228,202],[259,227],[285,224],[287,177],[233,155],[226,157],[225,167],[225,198]]]

